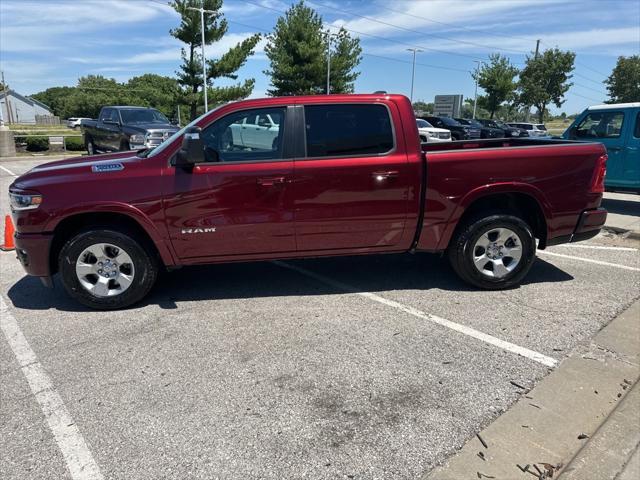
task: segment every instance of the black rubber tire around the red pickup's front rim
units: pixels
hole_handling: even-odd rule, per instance
[[[97,243],[108,243],[124,250],[131,258],[133,281],[122,293],[113,296],[96,296],[87,290],[76,274],[76,262],[82,252]],[[147,248],[145,248],[147,247]],[[158,276],[158,260],[149,252],[145,242],[129,232],[119,232],[108,227],[96,227],[76,234],[68,240],[58,257],[62,284],[67,293],[83,305],[97,310],[116,310],[140,301],[153,287]]]

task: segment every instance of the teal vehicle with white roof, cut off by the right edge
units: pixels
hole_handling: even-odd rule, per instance
[[[589,107],[562,137],[603,143],[609,156],[605,187],[640,193],[640,102]]]

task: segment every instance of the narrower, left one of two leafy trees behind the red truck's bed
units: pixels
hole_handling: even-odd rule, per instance
[[[486,93],[478,97],[478,105],[489,112],[490,118],[493,118],[500,105],[515,92],[516,75],[518,69],[511,65],[507,57],[499,53],[489,55],[489,63],[482,64],[482,68],[471,75]]]

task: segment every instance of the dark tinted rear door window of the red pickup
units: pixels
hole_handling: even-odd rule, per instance
[[[385,105],[306,105],[307,157],[380,155],[394,147]]]

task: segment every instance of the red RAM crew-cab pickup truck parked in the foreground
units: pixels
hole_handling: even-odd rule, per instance
[[[51,162],[10,187],[18,258],[84,305],[143,298],[161,267],[443,252],[466,282],[517,285],[537,248],[596,235],[605,148],[420,143],[401,95],[246,100],[160,146]]]

